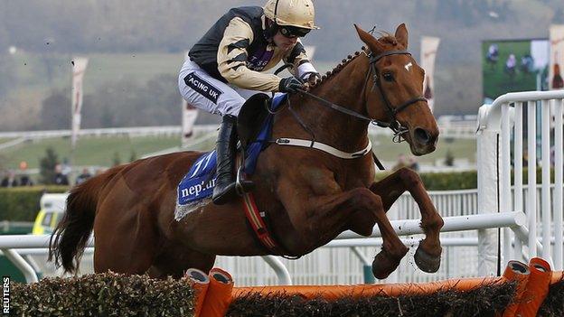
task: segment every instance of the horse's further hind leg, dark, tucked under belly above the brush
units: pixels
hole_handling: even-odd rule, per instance
[[[153,265],[146,273],[153,278],[166,278],[167,276],[181,278],[189,268],[197,268],[207,274],[214,263],[215,256],[187,250],[180,246],[167,247],[164,252],[155,257]]]

